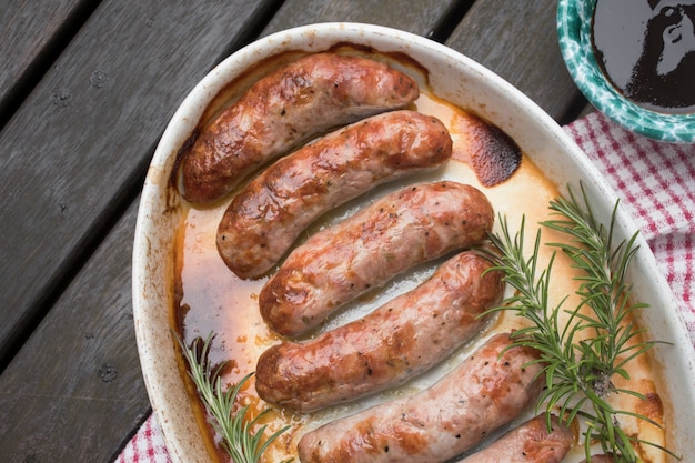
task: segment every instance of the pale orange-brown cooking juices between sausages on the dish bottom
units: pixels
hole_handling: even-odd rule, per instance
[[[454,141],[453,158],[449,164],[434,173],[415,175],[376,188],[374,191],[326,213],[316,223],[312,224],[304,238],[301,238],[299,241],[301,242],[306,235],[321,227],[339,222],[370,200],[393,191],[399,187],[419,181],[454,180],[470,183],[484,192],[493,204],[495,213],[506,217],[513,230],[516,228],[516,224],[521,223],[522,217],[524,217],[526,221],[525,246],[526,249],[532,249],[537,223],[548,219],[547,204],[557,197],[557,187],[545,178],[525,155],[522,158],[518,169],[510,179],[490,188],[482,185],[475,172],[469,165],[470,139],[464,137],[464,131],[469,130],[471,114],[431,95],[426,91],[421,92],[414,109],[439,118],[449,128]],[[223,378],[228,384],[234,384],[246,374],[252,373],[261,353],[269,346],[281,342],[281,338],[269,330],[259,312],[258,298],[263,284],[268,281],[268,276],[258,280],[241,280],[226,268],[218,254],[215,248],[216,228],[228,203],[229,200],[205,209],[188,207],[189,209],[180,227],[177,245],[175,264],[179,303],[174,308],[174,320],[177,330],[188,345],[197,338],[205,339],[211,332],[215,333],[210,361],[212,364],[229,362]],[[495,224],[493,231],[500,232],[498,223]],[[544,239],[546,241],[557,241],[561,238],[551,231],[546,232],[544,230]],[[540,255],[540,265],[546,265],[550,258],[551,251],[543,251]],[[427,265],[419,266],[416,271],[400,275],[383,288],[375,289],[359,298],[330,319],[319,329],[319,332],[355,320],[362,314],[369,313],[384,304],[395,295],[414,288],[424,281],[434,271],[436,264],[441,262],[442,260],[437,260]],[[572,299],[572,294],[575,291],[575,283],[572,281],[572,276],[575,273],[562,255],[557,256],[554,269],[551,298],[552,303],[555,304],[565,295],[570,295],[570,299]],[[296,443],[304,432],[331,420],[386,401],[390,397],[425,389],[453,370],[473,350],[477,349],[485,338],[494,332],[503,332],[518,326],[518,318],[512,314],[502,312],[495,315],[493,321],[485,325],[479,336],[459,349],[450,359],[394,391],[377,393],[351,404],[339,405],[311,414],[273,409],[262,423],[269,425],[266,434],[286,424],[291,424],[292,427],[273,443],[264,454],[263,461],[271,463],[290,457],[294,457],[294,461],[298,461]],[[312,334],[308,334],[305,339],[311,336]],[[633,362],[631,365],[631,375],[633,378],[631,386],[653,397],[654,403],[661,403],[656,392],[657,387],[651,380],[651,371],[652,369],[646,356],[642,356]],[[243,404],[250,405],[250,413],[255,415],[268,405],[258,397],[253,378],[246,384],[248,386],[241,392],[241,401]],[[190,391],[191,399],[199,404],[199,421],[209,437],[211,457],[218,461],[229,461],[215,446],[218,436],[214,435],[211,426],[207,423],[205,412],[198,401],[192,386]],[[625,397],[625,400],[627,402],[622,406],[634,410],[635,404],[629,402],[631,399]],[[654,416],[661,420],[663,410],[659,409],[657,412]],[[530,413],[533,413],[533,411],[530,411]],[[524,419],[526,417],[528,416],[524,416]],[[635,426],[637,425],[635,424]],[[634,427],[633,431],[637,434],[645,432],[638,427]],[[649,432],[653,431],[649,430]],[[656,433],[656,437],[649,435],[649,439],[663,443],[664,436],[663,433],[658,434],[659,432]],[[646,452],[651,451],[647,450]],[[645,456],[648,456],[645,461],[663,461],[663,454],[658,452],[655,452],[655,455],[646,455],[645,453]],[[573,451],[567,461],[578,462],[582,457],[582,450],[576,450]]]

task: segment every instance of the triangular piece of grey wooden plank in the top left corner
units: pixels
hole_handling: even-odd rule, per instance
[[[0,11],[0,125],[95,2],[4,0]]]

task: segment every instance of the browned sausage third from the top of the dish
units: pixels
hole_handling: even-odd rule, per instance
[[[304,333],[395,274],[482,242],[493,222],[492,205],[473,187],[404,188],[295,248],[261,290],[261,314],[280,334]]]

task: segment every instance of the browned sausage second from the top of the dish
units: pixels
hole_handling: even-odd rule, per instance
[[[276,161],[234,197],[218,250],[241,278],[256,278],[319,215],[380,183],[433,170],[452,153],[449,131],[415,111],[374,115]]]

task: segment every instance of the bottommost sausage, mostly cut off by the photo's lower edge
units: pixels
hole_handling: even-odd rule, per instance
[[[555,415],[551,427],[548,432],[545,415],[538,415],[457,463],[560,463],[572,447],[574,433]]]

